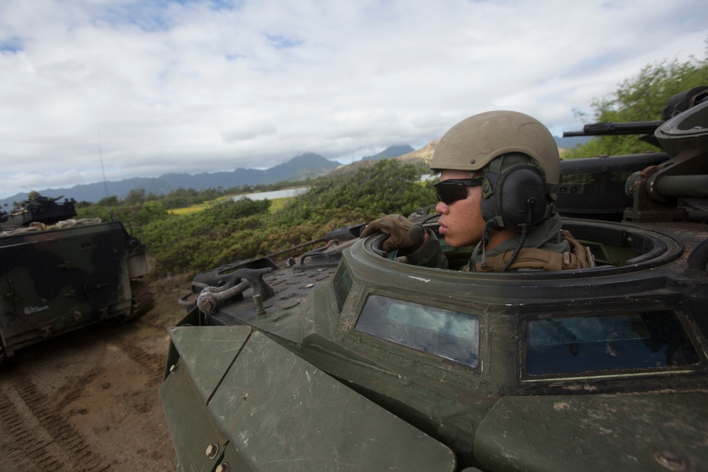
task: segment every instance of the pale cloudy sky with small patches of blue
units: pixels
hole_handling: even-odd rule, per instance
[[[0,0],[0,196],[101,160],[108,180],[349,163],[495,109],[559,136],[707,39],[704,0]]]

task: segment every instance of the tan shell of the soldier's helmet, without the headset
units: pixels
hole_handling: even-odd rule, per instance
[[[547,183],[558,183],[560,156],[551,132],[529,115],[497,110],[465,118],[435,147],[433,171],[479,171],[503,154],[530,156]]]

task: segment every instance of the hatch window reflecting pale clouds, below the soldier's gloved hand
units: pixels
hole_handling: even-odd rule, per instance
[[[479,364],[479,318],[371,295],[355,329],[469,367]]]

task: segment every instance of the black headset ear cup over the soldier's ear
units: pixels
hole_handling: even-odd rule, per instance
[[[546,182],[535,168],[518,166],[503,172],[494,191],[496,214],[504,226],[521,231],[539,224],[546,214]]]

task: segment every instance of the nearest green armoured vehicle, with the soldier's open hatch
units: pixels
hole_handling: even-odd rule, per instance
[[[176,468],[708,470],[707,89],[635,124],[661,151],[564,163],[597,267],[416,267],[353,226],[195,277],[159,391]]]

